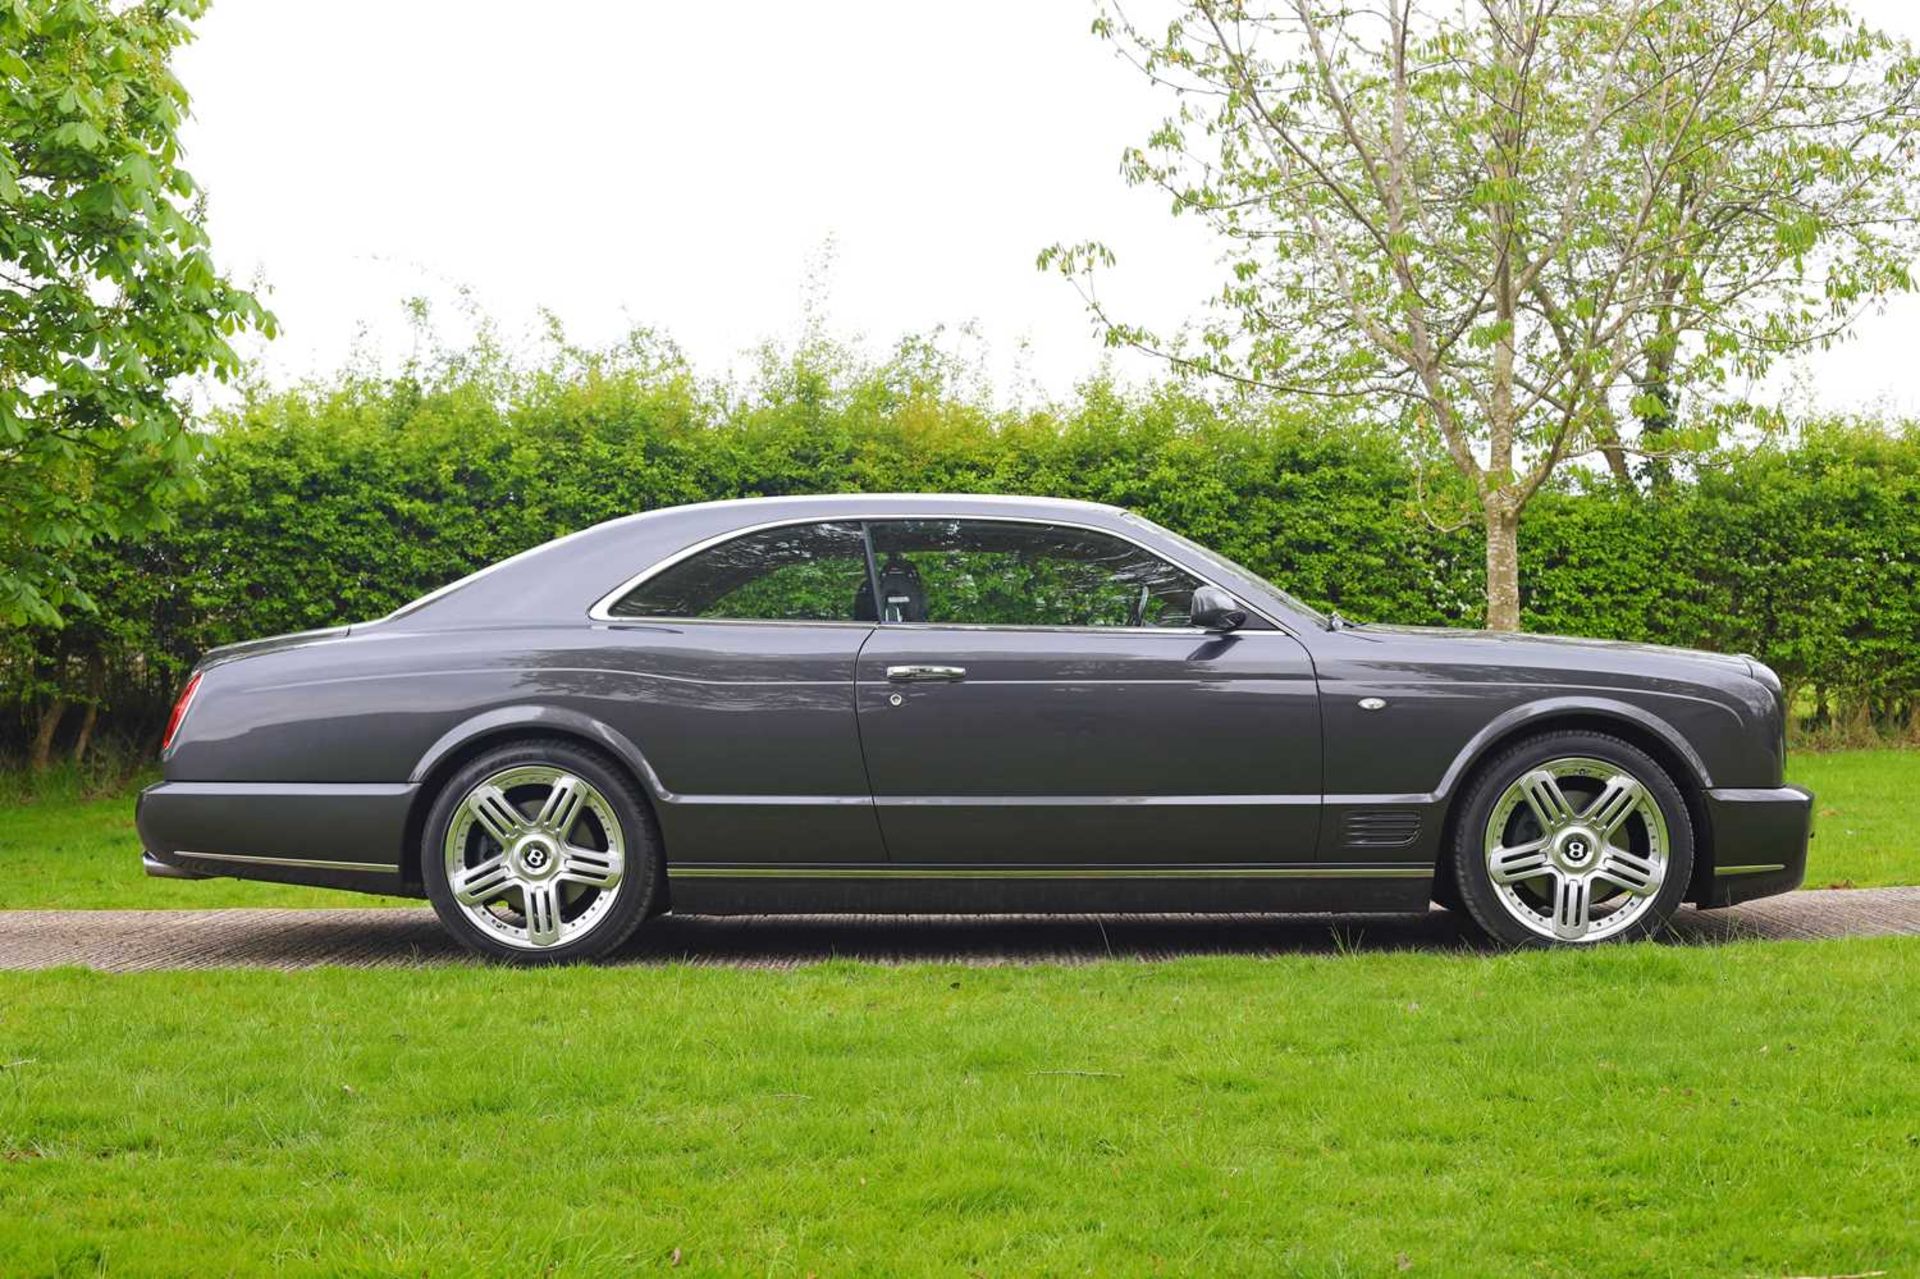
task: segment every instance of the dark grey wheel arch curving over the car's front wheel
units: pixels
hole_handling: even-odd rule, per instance
[[[1475,774],[1523,737],[1549,732],[1599,732],[1640,747],[1680,787],[1688,820],[1693,826],[1693,874],[1688,880],[1686,901],[1697,901],[1713,883],[1713,828],[1707,820],[1707,787],[1713,774],[1707,760],[1670,724],[1642,707],[1586,697],[1555,697],[1500,714],[1461,749],[1440,780],[1438,797],[1446,816],[1440,824],[1440,857],[1434,878],[1452,874],[1453,845],[1459,833],[1459,805]]]

